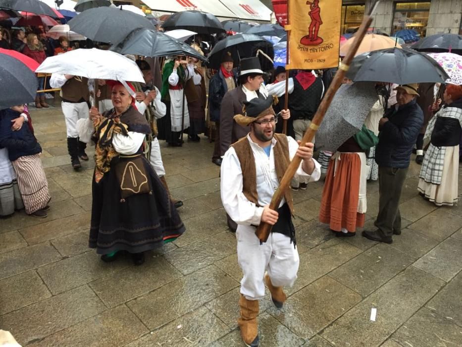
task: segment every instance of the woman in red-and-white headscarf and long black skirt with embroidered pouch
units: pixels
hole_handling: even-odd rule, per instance
[[[96,143],[89,245],[105,262],[124,250],[141,265],[145,251],[175,239],[185,228],[143,155],[151,127],[134,107],[135,89],[127,83],[111,84],[114,108],[103,115],[92,108],[93,124],[88,120],[86,128],[79,126],[81,137],[94,129]]]

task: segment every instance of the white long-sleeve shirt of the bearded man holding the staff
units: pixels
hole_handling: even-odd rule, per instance
[[[243,176],[241,164],[233,147],[230,147],[226,151],[221,163],[220,190],[223,207],[231,219],[237,224],[250,226],[260,224],[263,206],[268,205],[271,202],[271,198],[279,186],[279,180],[277,178],[276,167],[274,164],[273,149],[276,144],[276,139],[273,138],[271,141],[269,157],[259,145],[252,141],[250,134],[247,135],[247,139],[250,142],[257,169],[257,194],[259,206],[249,201],[244,196],[242,191]],[[292,137],[287,137],[287,140],[289,142],[289,157],[290,160],[292,160],[299,145]],[[303,176],[304,181],[306,182],[317,181],[321,175],[321,166],[314,159],[313,162],[314,171],[310,175],[303,171],[302,162],[295,174],[295,177]],[[284,203],[285,200],[283,199],[279,207],[281,207]]]

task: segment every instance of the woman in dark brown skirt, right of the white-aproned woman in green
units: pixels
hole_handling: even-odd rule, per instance
[[[204,55],[198,45],[193,44],[191,47]],[[189,58],[188,61],[188,73],[191,76],[186,82],[185,89],[189,111],[188,140],[199,142],[201,140],[199,134],[202,134],[205,130],[205,104],[207,102],[205,78],[199,59]]]

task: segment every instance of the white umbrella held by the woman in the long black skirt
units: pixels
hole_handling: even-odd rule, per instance
[[[110,79],[144,83],[138,65],[129,58],[111,51],[78,49],[46,58],[36,72],[60,73],[94,79]]]

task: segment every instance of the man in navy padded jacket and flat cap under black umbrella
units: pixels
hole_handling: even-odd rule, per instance
[[[401,190],[411,161],[423,112],[416,103],[418,85],[400,85],[396,99],[398,104],[379,121],[379,143],[375,161],[379,166],[379,213],[375,231],[363,231],[362,236],[374,241],[392,243],[392,235],[401,234],[399,209]]]

